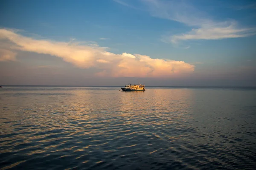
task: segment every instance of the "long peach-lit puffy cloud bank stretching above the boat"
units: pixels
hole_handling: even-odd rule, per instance
[[[105,77],[178,77],[194,71],[183,61],[152,59],[140,54],[114,54],[99,46],[75,42],[35,40],[9,29],[0,29],[0,43],[8,40],[12,49],[60,57],[79,68],[95,68]]]

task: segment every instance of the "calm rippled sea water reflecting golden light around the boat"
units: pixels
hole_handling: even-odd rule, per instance
[[[0,88],[1,169],[256,169],[255,88]]]

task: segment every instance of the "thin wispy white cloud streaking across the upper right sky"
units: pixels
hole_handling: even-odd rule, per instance
[[[199,11],[185,1],[140,0],[140,2],[144,3],[153,17],[177,21],[192,27],[191,31],[183,34],[165,35],[162,39],[163,42],[177,44],[184,40],[221,40],[249,37],[256,34],[256,28],[240,28],[235,20],[212,20],[207,16],[208,14]],[[255,4],[246,6],[246,8],[254,6]]]

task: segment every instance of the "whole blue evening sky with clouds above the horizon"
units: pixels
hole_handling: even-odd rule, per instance
[[[256,86],[256,1],[0,1],[0,85],[139,82]]]

